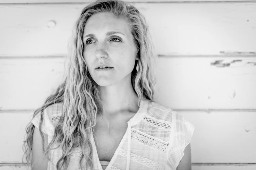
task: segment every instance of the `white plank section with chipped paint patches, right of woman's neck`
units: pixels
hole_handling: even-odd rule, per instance
[[[155,99],[174,109],[255,109],[255,57],[159,57]]]

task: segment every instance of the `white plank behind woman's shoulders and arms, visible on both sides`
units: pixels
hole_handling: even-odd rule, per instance
[[[256,163],[256,112],[178,113],[195,125],[192,163]],[[32,114],[32,111],[0,112],[0,163],[21,163],[25,127]],[[15,126],[10,126],[13,122]]]

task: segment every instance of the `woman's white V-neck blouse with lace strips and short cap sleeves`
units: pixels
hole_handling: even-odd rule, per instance
[[[62,106],[62,103],[56,103],[46,107],[43,112],[42,131],[48,135],[48,143],[52,140],[54,128],[62,115]],[[31,122],[39,128],[40,114]],[[194,124],[176,111],[147,99],[141,100],[138,112],[127,123],[126,133],[109,163],[99,160],[93,135],[91,136],[89,140],[93,147],[95,170],[103,170],[103,166],[107,166],[106,170],[176,170],[195,129]],[[56,163],[62,151],[58,148],[50,150],[50,153],[47,170],[57,170]],[[74,148],[67,170],[82,170],[79,169],[81,153],[80,147]],[[82,161],[85,164],[85,160]]]

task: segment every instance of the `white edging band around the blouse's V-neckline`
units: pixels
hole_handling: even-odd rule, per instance
[[[132,126],[134,124],[137,124],[143,118],[143,116],[145,114],[145,109],[147,109],[147,103],[146,102],[147,101],[145,101],[144,99],[141,99],[141,101],[140,101],[140,108],[135,113],[135,115],[127,122],[128,126]],[[105,168],[105,170],[110,169],[110,166],[113,165],[113,162],[115,161],[115,158],[116,158],[120,148],[123,146],[124,141],[128,137],[128,135],[127,135],[128,134],[128,129],[129,128],[127,127],[125,135],[122,137],[121,142],[119,143],[117,149],[114,152],[113,157],[111,158],[111,160],[110,160],[109,164],[107,165],[107,167]],[[103,168],[101,166],[101,163],[100,163],[100,160],[99,160],[99,157],[98,157],[98,152],[97,152],[97,149],[96,149],[96,144],[95,144],[95,141],[94,141],[93,133],[91,135],[91,143],[92,143],[93,149],[94,149],[93,150],[93,152],[94,152],[94,163],[97,164],[95,168],[98,168],[98,166],[99,166],[99,168],[100,168],[99,170],[103,170]]]

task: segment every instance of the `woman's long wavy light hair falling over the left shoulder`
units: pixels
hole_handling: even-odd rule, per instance
[[[145,17],[137,8],[121,0],[97,0],[84,7],[76,21],[69,43],[68,70],[64,74],[64,80],[57,90],[46,99],[43,106],[38,108],[33,114],[33,118],[37,114],[41,114],[39,131],[44,143],[42,133],[43,112],[50,105],[56,103],[63,104],[63,114],[55,126],[53,138],[46,150],[43,146],[43,153],[48,158],[48,161],[51,161],[50,150],[56,149],[53,148],[54,144],[57,144],[57,148],[61,149],[62,156],[56,164],[57,170],[67,169],[70,154],[76,147],[81,147],[82,149],[79,157],[80,168],[84,168],[82,167],[82,160],[85,159],[85,168],[93,169],[93,149],[90,138],[96,125],[96,115],[103,115],[104,107],[100,100],[100,86],[90,76],[85,59],[83,58],[84,44],[82,37],[86,21],[92,15],[99,12],[112,13],[117,18],[124,19],[128,24],[133,35],[133,41],[139,49],[139,60],[136,60],[134,63],[131,76],[132,87],[139,101],[141,99],[153,101],[156,83],[156,65],[154,64],[157,57],[153,51],[151,35]],[[137,62],[140,66],[138,72],[136,71]],[[25,153],[22,157],[22,163],[30,167],[32,166],[34,128],[35,126],[32,122],[26,126],[26,140],[23,144],[23,151]],[[26,163],[23,161],[24,157]]]

